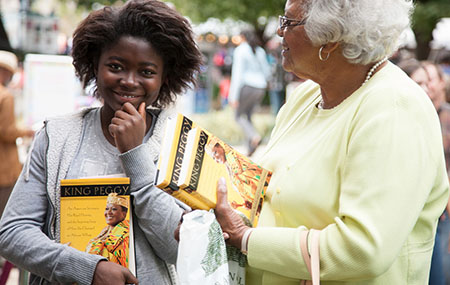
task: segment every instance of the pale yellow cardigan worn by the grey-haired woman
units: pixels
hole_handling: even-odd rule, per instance
[[[448,200],[431,101],[392,63],[333,109],[316,107],[319,92],[311,81],[295,90],[259,160],[273,176],[247,284],[309,279],[299,237],[309,228],[322,230],[323,285],[427,284]]]

